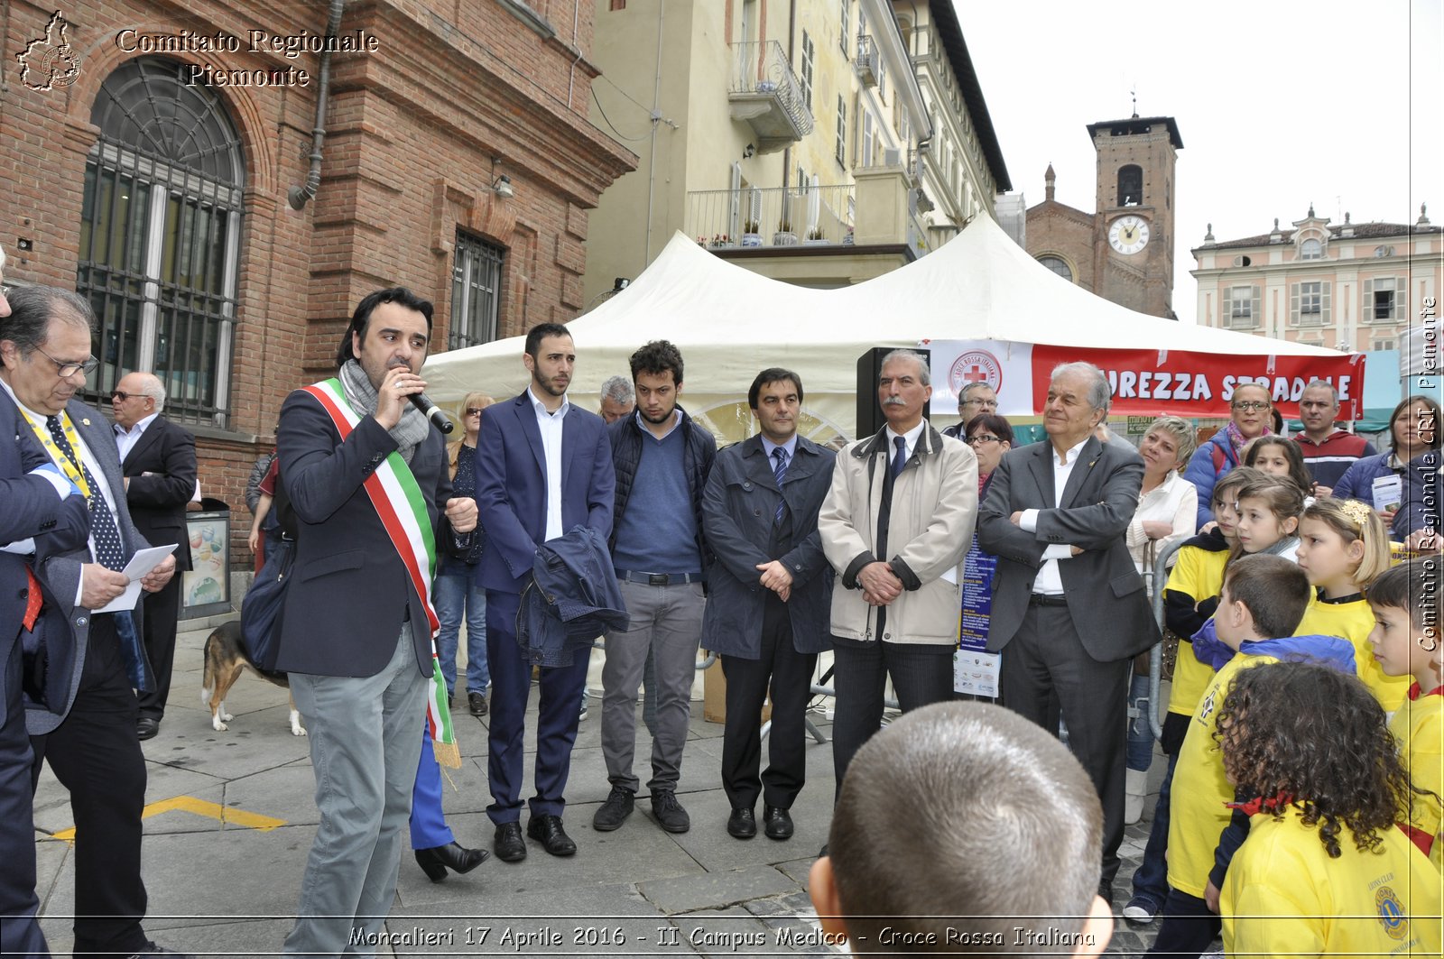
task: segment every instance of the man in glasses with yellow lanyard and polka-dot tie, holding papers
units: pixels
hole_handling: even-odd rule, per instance
[[[124,592],[130,581],[120,569],[147,546],[126,507],[110,423],[75,399],[97,365],[90,352],[95,315],[81,296],[51,286],[20,287],[9,299],[12,313],[0,319],[0,383],[20,409],[19,428],[30,430],[81,488],[91,516],[90,542],[46,557],[36,573],[75,634],[66,703],[59,712],[59,703],[51,703],[26,715],[35,778],[40,761],[49,760],[71,793],[74,952],[165,952],[140,924],[146,914],[140,881],[146,763],[131,690],[149,685],[149,664],[129,612],[92,612]],[[175,557],[168,556],[142,586],[156,592],[173,573]]]

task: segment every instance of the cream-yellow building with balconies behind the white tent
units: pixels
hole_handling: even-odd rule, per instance
[[[891,0],[596,0],[593,120],[640,162],[592,215],[588,303],[679,230],[809,286],[926,253],[936,131],[908,43]]]

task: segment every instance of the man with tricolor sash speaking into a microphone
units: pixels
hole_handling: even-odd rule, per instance
[[[374,943],[396,898],[432,674],[436,523],[445,513],[458,533],[477,526],[477,501],[452,498],[442,435],[412,404],[430,332],[427,300],[400,286],[371,293],[336,377],[280,412],[299,529],[276,664],[306,715],[321,812],[287,953]]]

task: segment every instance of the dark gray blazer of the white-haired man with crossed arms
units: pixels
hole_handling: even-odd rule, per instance
[[[1053,443],[1043,441],[1004,454],[978,510],[978,544],[998,556],[991,651],[1004,648],[1017,634],[1043,552],[1054,543],[1083,549],[1060,560],[1058,572],[1069,615],[1089,656],[1112,663],[1160,640],[1144,579],[1123,542],[1142,484],[1144,461],[1136,452],[1090,436],[1056,507]],[[1035,533],[1012,524],[1009,517],[1019,510],[1041,510]]]

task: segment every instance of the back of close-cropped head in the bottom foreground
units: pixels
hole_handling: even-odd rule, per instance
[[[855,953],[1096,956],[1113,933],[1102,830],[1093,781],[1041,726],[934,703],[853,755],[809,891]]]

